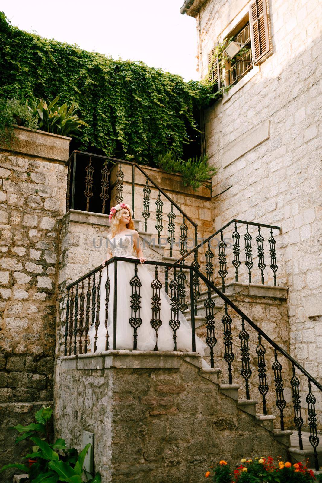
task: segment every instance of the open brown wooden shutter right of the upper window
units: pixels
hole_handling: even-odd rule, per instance
[[[257,64],[270,51],[266,0],[255,0],[251,3],[249,22],[251,27],[252,58],[254,64]]]

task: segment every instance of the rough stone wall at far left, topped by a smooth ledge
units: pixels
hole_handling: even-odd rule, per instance
[[[16,129],[0,152],[0,406],[3,425],[53,398],[59,219],[70,138]],[[3,404],[3,406],[2,406]],[[26,409],[27,408],[27,409]],[[31,415],[26,416],[27,419]],[[6,435],[1,462],[14,455]],[[4,458],[2,460],[2,457]]]

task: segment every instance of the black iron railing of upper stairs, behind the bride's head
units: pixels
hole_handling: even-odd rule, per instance
[[[96,163],[96,166],[94,164]],[[114,185],[115,203],[124,201],[124,172],[123,165],[131,167],[131,201],[134,216],[135,206],[142,206],[140,216],[144,219],[144,231],[147,231],[148,220],[153,212],[155,215],[155,230],[157,239],[154,246],[161,245],[168,248],[169,256],[178,247],[180,255],[186,253],[185,241],[190,238],[197,244],[198,225],[182,208],[141,168],[137,163],[124,161],[108,156],[99,156],[81,151],[74,151],[68,161],[68,181],[66,211],[78,209],[94,213],[108,213],[111,200],[111,167],[117,165],[116,181]],[[135,175],[139,171],[145,179],[145,185],[140,193],[135,189]],[[76,191],[77,186],[77,191]],[[84,190],[83,190],[84,188]],[[157,193],[155,201],[150,198],[152,188]],[[140,197],[139,202],[135,198]],[[169,202],[168,213],[164,213],[164,202]],[[168,218],[168,220],[167,220]],[[156,242],[155,242],[156,241]]]

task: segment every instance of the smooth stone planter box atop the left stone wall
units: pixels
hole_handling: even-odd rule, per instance
[[[32,129],[16,126],[15,138],[10,147],[1,147],[4,151],[22,153],[29,156],[37,156],[55,161],[67,161],[71,138],[59,136],[45,131],[33,131]]]

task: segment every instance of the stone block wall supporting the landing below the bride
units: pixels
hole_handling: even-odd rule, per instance
[[[286,446],[201,377],[191,353],[70,356],[61,361],[56,436],[80,449],[94,433],[95,470],[104,483],[203,482],[215,460],[286,457]]]

